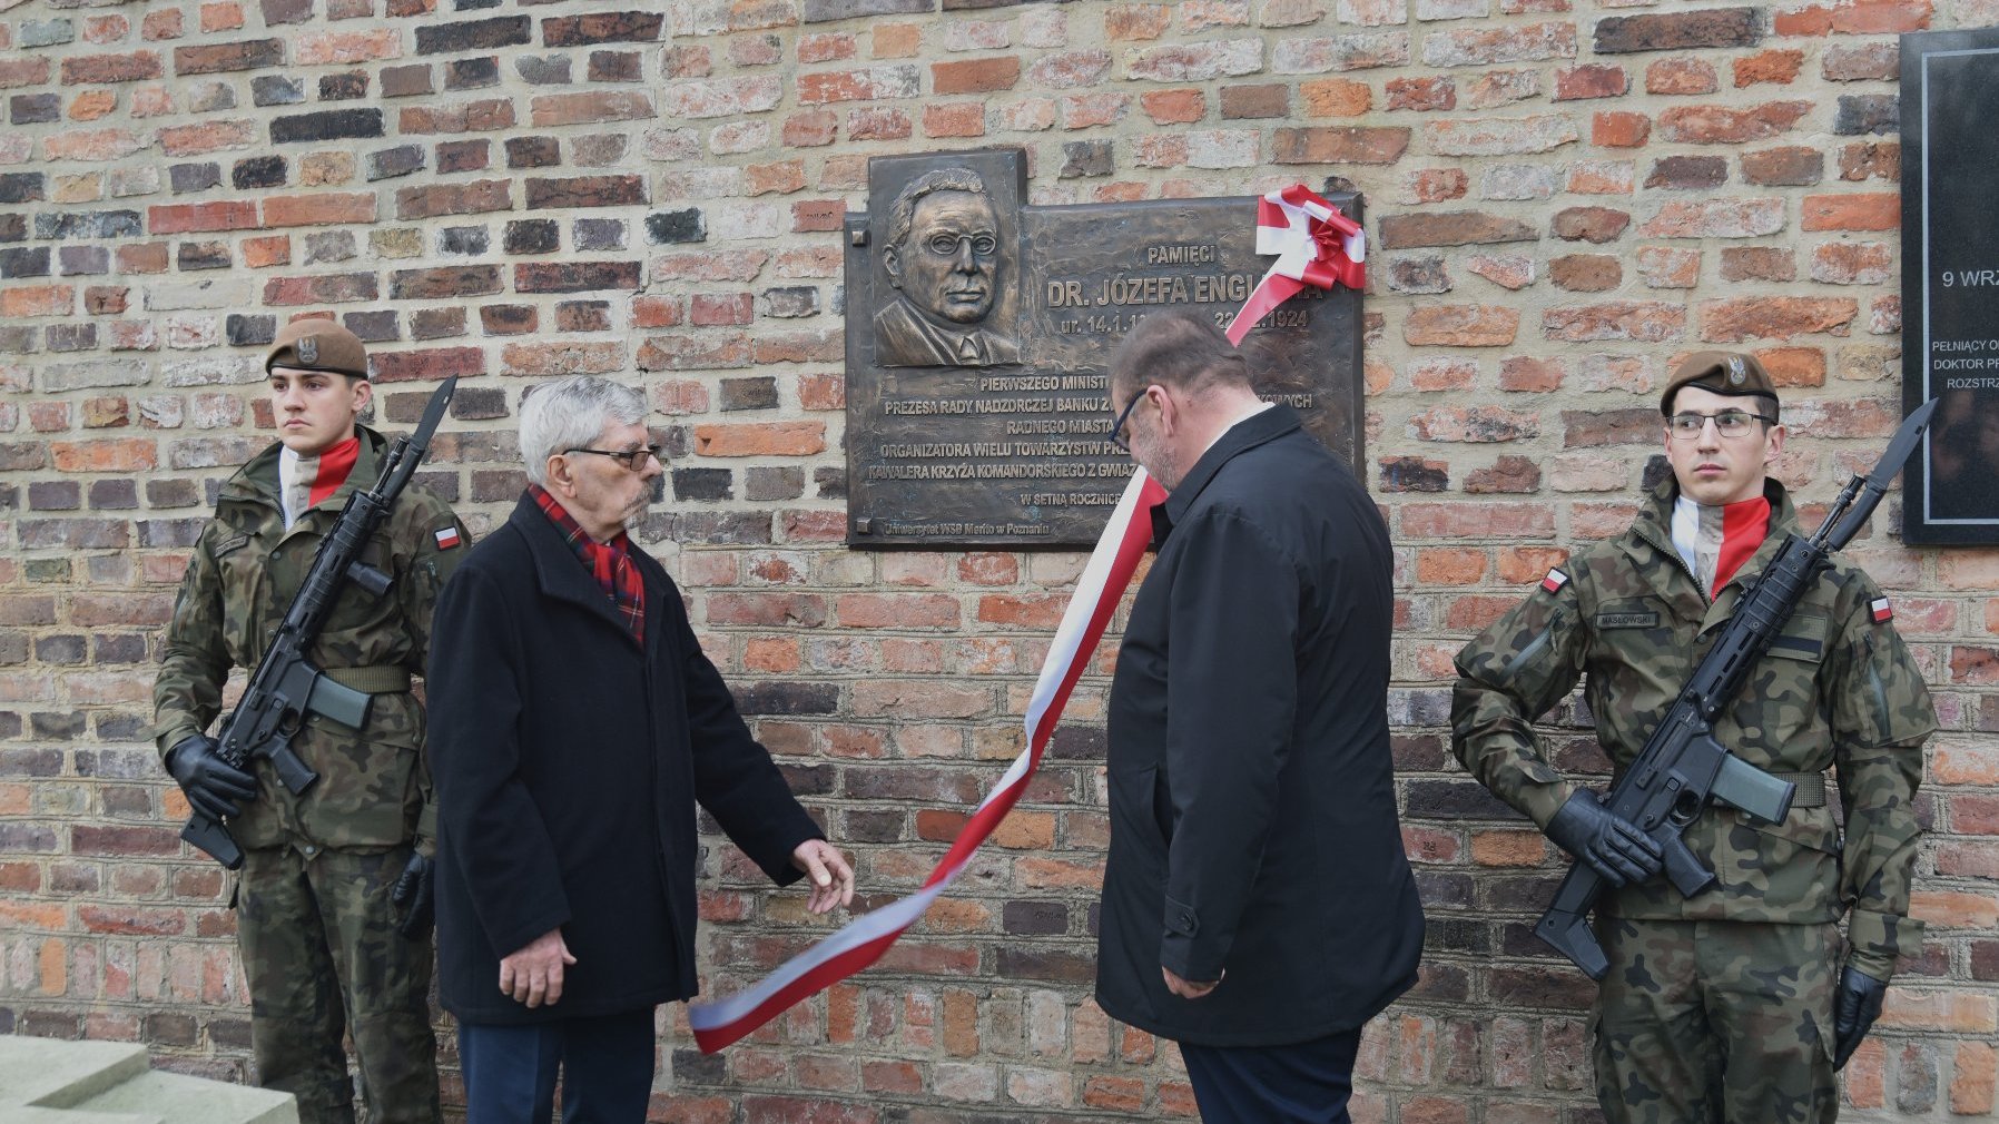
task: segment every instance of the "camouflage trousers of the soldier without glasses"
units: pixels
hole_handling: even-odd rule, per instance
[[[354,1036],[368,1124],[438,1124],[430,938],[396,932],[390,890],[410,848],[244,852],[236,938],[250,980],[258,1082],[300,1124],[354,1124],[342,1038]]]

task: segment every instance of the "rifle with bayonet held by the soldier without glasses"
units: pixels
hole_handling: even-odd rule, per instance
[[[320,774],[306,768],[306,762],[292,750],[292,738],[304,724],[306,712],[356,730],[368,724],[368,704],[374,696],[334,682],[312,666],[306,652],[320,638],[320,630],[348,582],[372,598],[388,594],[394,578],[362,562],[362,548],[396,506],[396,496],[410,482],[410,474],[424,462],[430,434],[444,420],[444,408],[456,388],[456,374],[444,380],[444,386],[430,396],[430,406],[424,408],[424,420],[416,426],[416,434],[396,438],[388,458],[382,460],[382,476],[376,478],[374,488],[356,488],[348,496],[348,506],[340,508],[334,528],[320,540],[306,582],[298,586],[298,596],[284,610],[284,624],[272,634],[236,710],[222,720],[216,752],[228,764],[248,772],[252,760],[268,758],[278,772],[278,782],[296,796],[320,780]],[[244,864],[244,852],[236,846],[230,830],[200,808],[188,818],[180,838],[206,850],[230,870]]]

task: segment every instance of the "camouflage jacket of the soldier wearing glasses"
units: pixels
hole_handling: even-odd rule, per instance
[[[1583,678],[1597,740],[1621,774],[1733,616],[1745,584],[1797,530],[1783,486],[1771,480],[1765,494],[1769,538],[1713,604],[1673,550],[1677,484],[1667,480],[1625,534],[1569,558],[1561,568],[1567,582],[1543,582],[1473,638],[1457,654],[1457,760],[1545,828],[1577,784],[1549,764],[1531,722]],[[1661,874],[1615,890],[1605,912],[1835,922],[1851,910],[1855,966],[1885,980],[1897,956],[1915,952],[1921,922],[1909,918],[1913,800],[1921,746],[1937,716],[1893,622],[1875,620],[1877,598],[1873,580],[1835,554],[1715,726],[1721,744],[1769,772],[1837,766],[1845,842],[1829,806],[1793,806],[1781,824],[1763,824],[1709,804],[1683,838],[1719,884],[1681,898]]]

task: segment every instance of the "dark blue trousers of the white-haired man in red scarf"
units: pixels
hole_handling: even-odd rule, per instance
[[[532,1026],[458,1026],[466,1124],[548,1124],[562,1070],[564,1124],[644,1124],[652,1008]]]

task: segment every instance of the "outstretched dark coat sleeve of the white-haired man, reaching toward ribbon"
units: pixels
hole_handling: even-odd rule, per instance
[[[680,590],[668,586],[674,644],[682,652],[688,692],[688,744],[694,752],[694,798],[722,824],[730,840],[778,886],[804,876],[792,852],[806,840],[826,838],[792,796],[770,752],[750,736],[722,672],[702,652]]]

